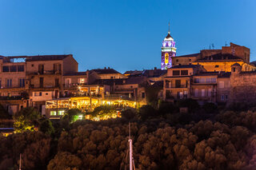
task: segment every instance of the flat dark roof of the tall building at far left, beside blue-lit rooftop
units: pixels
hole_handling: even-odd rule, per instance
[[[72,56],[68,55],[38,55],[38,56],[26,56],[26,61],[54,61],[54,60],[63,60],[66,57]]]

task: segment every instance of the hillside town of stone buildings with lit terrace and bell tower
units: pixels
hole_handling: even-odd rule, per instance
[[[110,67],[78,72],[72,54],[0,56],[0,104],[10,115],[34,107],[42,115],[58,119],[68,109],[86,112],[100,105],[139,108],[152,100],[187,98],[200,105],[230,105],[256,99],[251,93],[256,89],[256,62],[250,61],[250,49],[245,46],[230,42],[222,49],[176,56],[169,31],[161,49],[161,69],[126,73]],[[149,89],[154,91],[154,99]]]

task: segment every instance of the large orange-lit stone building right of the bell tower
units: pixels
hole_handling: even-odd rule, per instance
[[[231,65],[242,65],[242,71],[254,71],[250,64],[250,49],[230,43],[222,49],[203,49],[200,53],[172,57],[173,65],[202,65],[208,72],[230,72]]]

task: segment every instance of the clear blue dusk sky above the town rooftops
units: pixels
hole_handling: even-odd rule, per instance
[[[177,55],[225,43],[256,60],[254,0],[1,0],[0,55],[74,54],[79,71],[160,67],[168,31]]]

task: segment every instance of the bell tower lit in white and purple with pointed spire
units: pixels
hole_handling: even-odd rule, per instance
[[[176,56],[174,38],[170,36],[170,22],[169,22],[168,35],[162,42],[161,51],[162,51],[161,69],[168,69],[172,66],[171,57]]]

